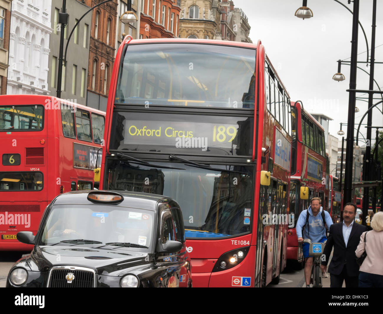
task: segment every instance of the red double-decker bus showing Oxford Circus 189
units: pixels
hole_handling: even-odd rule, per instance
[[[100,186],[177,200],[193,286],[278,283],[286,263],[290,97],[260,41],[127,36],[105,130]]]

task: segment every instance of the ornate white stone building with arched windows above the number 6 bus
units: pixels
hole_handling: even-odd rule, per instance
[[[13,2],[7,94],[47,94],[51,3]]]

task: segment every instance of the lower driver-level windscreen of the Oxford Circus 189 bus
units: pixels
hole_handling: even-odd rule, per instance
[[[254,219],[253,167],[212,165],[214,169],[202,169],[187,164],[157,164],[183,169],[154,168],[109,159],[105,188],[177,199],[188,238],[221,238],[250,232]]]

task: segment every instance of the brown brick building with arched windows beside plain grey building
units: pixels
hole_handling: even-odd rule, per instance
[[[85,0],[93,7],[101,0]],[[104,3],[92,12],[89,41],[87,105],[106,110],[109,84],[115,60],[117,0]]]

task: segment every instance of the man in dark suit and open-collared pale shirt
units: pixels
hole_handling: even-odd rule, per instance
[[[343,222],[338,222],[330,227],[329,237],[324,247],[326,260],[322,261],[321,268],[326,271],[327,263],[334,246],[330,273],[330,287],[342,288],[343,281],[346,288],[358,287],[359,265],[356,262],[355,250],[360,241],[360,235],[367,229],[363,225],[355,223],[357,206],[347,203],[343,209]]]

